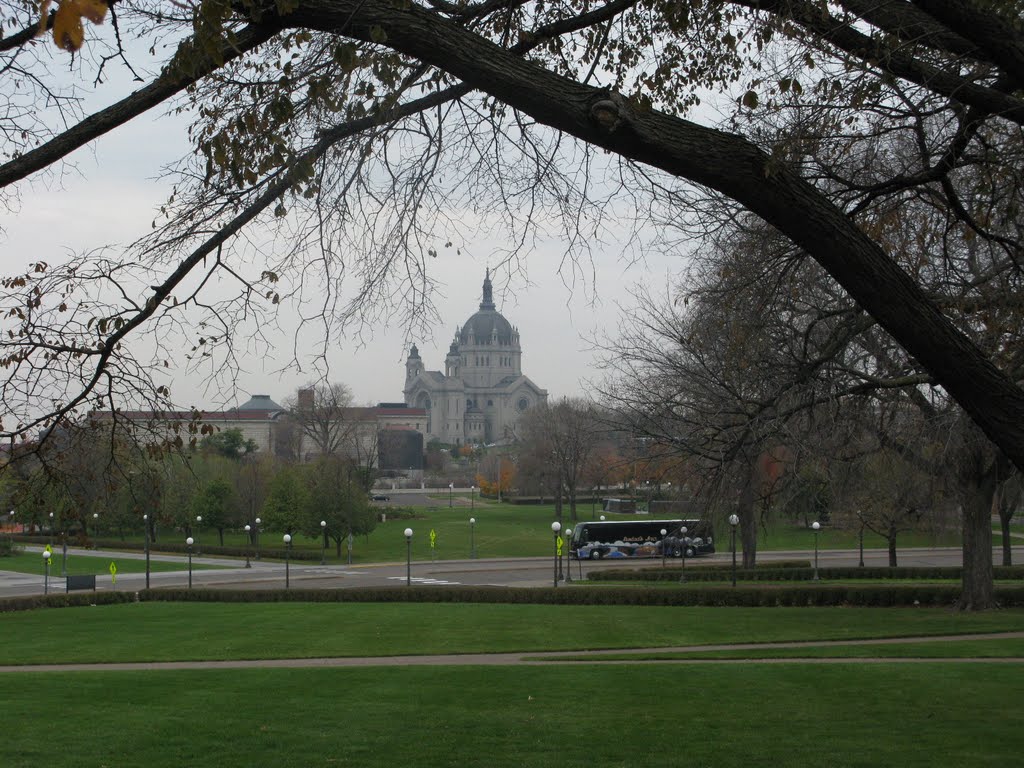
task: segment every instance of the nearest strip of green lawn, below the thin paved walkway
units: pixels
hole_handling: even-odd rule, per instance
[[[1016,765],[998,665],[6,675],[5,768]]]

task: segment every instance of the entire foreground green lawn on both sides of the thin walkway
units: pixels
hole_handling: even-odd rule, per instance
[[[1022,630],[1024,610],[143,602],[0,625],[4,660],[34,664],[905,637]],[[974,768],[1024,751],[1018,665],[29,671],[0,685],[4,768]]]

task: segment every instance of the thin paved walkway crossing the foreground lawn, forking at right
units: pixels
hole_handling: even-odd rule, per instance
[[[238,670],[300,669],[329,667],[499,667],[552,664],[1024,664],[1021,656],[992,658],[955,657],[785,657],[785,658],[693,658],[615,660],[607,656],[622,653],[679,653],[720,650],[772,650],[776,648],[817,648],[847,645],[893,645],[901,643],[942,643],[957,640],[1019,640],[1024,632],[994,632],[983,635],[941,635],[876,638],[871,640],[807,640],[782,643],[730,643],[722,645],[680,645],[662,648],[609,648],[605,650],[527,651],[516,653],[451,653],[419,656],[354,656],[337,658],[259,658],[227,662],[129,662],[113,664],[47,664],[0,666],[10,672],[125,672],[148,670]]]

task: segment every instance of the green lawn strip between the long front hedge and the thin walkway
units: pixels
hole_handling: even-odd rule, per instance
[[[1024,609],[130,603],[0,615],[7,664],[668,647],[1024,630]]]

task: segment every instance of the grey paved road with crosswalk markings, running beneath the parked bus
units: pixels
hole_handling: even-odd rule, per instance
[[[41,548],[28,547],[29,551],[41,551]],[[115,560],[141,559],[144,556],[128,552],[103,552],[69,550],[71,557],[76,554],[110,557]],[[772,560],[813,559],[813,552],[760,552],[759,562]],[[999,562],[1001,550],[993,550],[993,561]],[[1020,562],[1024,557],[1024,546],[1014,547],[1014,562]],[[179,562],[180,570],[167,572],[152,572],[151,586],[184,587],[188,583],[186,558],[176,555],[153,555],[154,560]],[[281,589],[285,586],[285,563],[259,561],[252,567],[242,567],[240,560],[215,557],[194,557],[197,564],[207,566],[223,566],[212,570],[194,570],[193,585],[197,588],[228,588],[228,589]],[[728,552],[700,558],[699,562],[728,563]],[[642,564],[656,564],[657,560],[639,561]],[[692,563],[693,560],[688,562]],[[819,552],[818,564],[821,567],[830,565],[856,565],[857,550],[826,550]],[[638,561],[627,562],[573,562],[572,578],[579,579],[582,571],[616,567],[635,567]],[[885,550],[865,550],[865,565],[887,565],[888,553]],[[907,566],[924,565],[959,565],[961,550],[954,547],[905,549],[899,551],[899,564]],[[678,568],[679,560],[670,560],[668,567]],[[308,562],[292,562],[289,565],[289,581],[296,589],[345,589],[350,587],[395,587],[406,584],[406,563],[373,563],[366,565],[318,565]],[[509,586],[509,587],[546,587],[554,583],[553,558],[525,557],[483,560],[415,560],[410,567],[412,582],[424,585],[473,585],[473,586]],[[118,573],[117,586],[111,584],[109,575],[96,578],[98,590],[118,589],[134,591],[144,589],[144,573]],[[54,592],[65,591],[65,580],[54,577],[51,569],[49,588]],[[31,573],[14,573],[0,570],[0,597],[19,595],[38,595],[43,592],[43,575]]]

